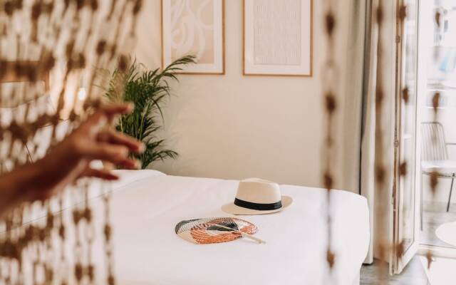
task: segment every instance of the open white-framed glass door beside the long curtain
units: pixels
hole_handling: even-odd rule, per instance
[[[404,8],[401,8],[405,6]],[[418,0],[399,0],[396,23],[395,187],[393,273],[418,251],[416,169]],[[404,18],[405,16],[405,18]]]

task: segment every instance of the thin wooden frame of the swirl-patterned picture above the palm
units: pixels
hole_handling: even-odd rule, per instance
[[[161,16],[161,40],[162,40],[162,68],[165,68],[170,61],[167,61],[167,56],[165,53],[167,53],[167,44],[165,43],[166,41],[166,36],[165,36],[165,20],[167,19],[165,16],[165,1],[170,1],[170,0],[161,0],[160,1],[160,16]],[[199,68],[199,71],[192,70],[192,68],[186,67],[187,71],[181,71],[179,72],[180,74],[186,74],[186,75],[224,75],[225,74],[225,0],[212,0],[214,2],[219,1],[220,2],[220,13],[221,15],[221,23],[219,25],[220,31],[219,31],[219,56],[216,56],[219,58],[219,64],[220,66],[217,67],[217,71],[204,71],[204,68]],[[216,15],[214,14],[214,19],[216,19]],[[215,55],[216,51],[214,51]],[[185,56],[185,54],[182,54],[181,56]],[[198,66],[198,63],[193,65],[193,66]],[[188,71],[188,70],[192,71]]]

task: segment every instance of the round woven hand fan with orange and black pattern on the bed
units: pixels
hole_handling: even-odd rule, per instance
[[[247,237],[259,243],[265,243],[257,237],[252,237],[258,231],[251,222],[232,217],[190,219],[179,222],[175,228],[176,234],[187,242],[194,244],[217,244],[232,242],[240,237]]]

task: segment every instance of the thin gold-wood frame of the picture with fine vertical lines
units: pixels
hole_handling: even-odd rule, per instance
[[[296,77],[312,77],[314,74],[314,0],[309,1],[309,73],[261,73],[249,72],[246,68],[246,4],[247,1],[243,0],[242,3],[242,74],[244,76],[296,76]],[[305,0],[303,0],[305,1]]]

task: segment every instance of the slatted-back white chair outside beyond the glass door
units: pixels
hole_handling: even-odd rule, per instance
[[[448,145],[456,142],[445,142],[443,125],[439,122],[425,122],[421,124],[421,173],[430,175],[437,171],[439,178],[451,179],[450,194],[448,195],[447,212],[450,211],[453,184],[456,178],[456,160],[448,155]],[[423,229],[423,183],[421,185],[421,229]]]

